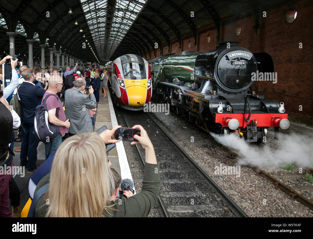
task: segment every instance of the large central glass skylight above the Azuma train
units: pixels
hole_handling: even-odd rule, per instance
[[[113,11],[110,10],[107,0],[80,2],[84,12],[88,12],[85,17],[95,43],[95,52],[98,53],[100,61],[109,61],[147,0],[116,0]]]

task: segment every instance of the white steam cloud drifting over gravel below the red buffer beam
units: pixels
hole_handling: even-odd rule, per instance
[[[269,132],[268,134],[273,134]],[[249,165],[258,167],[284,167],[287,164],[293,164],[296,167],[313,167],[313,140],[305,135],[282,134],[280,140],[275,139],[277,149],[269,146],[269,141],[264,147],[247,143],[244,138],[237,134],[219,136],[211,135],[226,147],[232,148],[244,155],[244,158],[238,160],[239,165]]]

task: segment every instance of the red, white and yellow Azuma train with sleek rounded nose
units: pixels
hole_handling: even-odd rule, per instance
[[[149,63],[142,57],[127,54],[116,58],[111,64],[113,100],[128,110],[143,110],[151,101],[151,73]]]

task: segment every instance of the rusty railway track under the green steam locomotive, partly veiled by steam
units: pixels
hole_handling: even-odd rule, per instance
[[[185,119],[183,117],[177,116],[176,117],[180,118],[181,120],[185,121]],[[212,137],[211,135],[208,134],[204,134],[203,132],[201,132],[198,127],[195,127],[193,125],[190,125],[190,127],[192,127],[196,132],[198,132],[199,134],[201,134],[203,137],[207,138],[210,142],[212,142],[213,144],[215,144],[216,146],[220,147],[223,151],[228,152],[230,154],[231,158],[240,158],[242,157],[241,155],[239,155],[237,152],[233,151],[232,149],[225,147],[224,145],[218,143],[214,137]],[[261,146],[264,146],[261,144]],[[251,167],[249,165],[243,165],[243,167],[249,167],[251,168],[254,172],[256,172],[256,175],[262,176],[264,178],[266,178],[267,180],[271,181],[276,187],[280,188],[281,190],[283,190],[284,192],[286,192],[286,194],[288,194],[291,199],[294,199],[300,203],[302,203],[303,205],[305,205],[306,207],[310,208],[311,210],[313,210],[313,202],[311,200],[309,200],[306,197],[303,197],[300,193],[296,192],[295,190],[310,190],[313,191],[313,186],[295,186],[295,187],[289,187],[287,186],[284,182],[284,178],[288,178],[288,177],[304,177],[304,173],[303,174],[290,174],[290,173],[286,173],[285,175],[270,175],[268,172],[265,172],[264,170],[260,169],[259,167]],[[305,172],[309,173],[309,174],[313,174],[313,169],[312,168],[306,168],[304,170]]]

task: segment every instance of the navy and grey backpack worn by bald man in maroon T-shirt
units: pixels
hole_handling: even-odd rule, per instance
[[[48,120],[48,110],[46,106],[46,100],[49,96],[54,96],[59,99],[57,96],[49,94],[44,98],[44,101],[41,105],[36,107],[35,119],[34,119],[34,136],[37,138],[37,141],[41,141],[44,144],[51,142],[55,137],[59,135],[60,126],[53,125]],[[57,108],[57,115],[59,118],[59,108]]]

